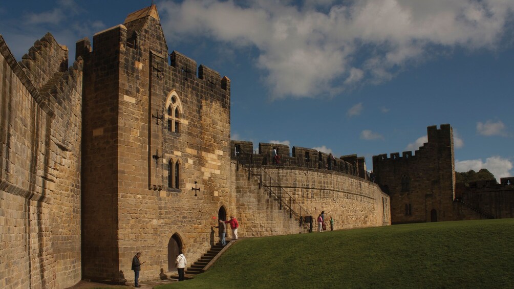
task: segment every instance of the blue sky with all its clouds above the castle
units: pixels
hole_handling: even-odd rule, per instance
[[[73,59],[151,3],[2,1],[0,34],[18,60],[48,31]],[[449,123],[457,171],[514,176],[514,1],[155,3],[170,52],[230,78],[232,139],[357,153],[371,170]]]

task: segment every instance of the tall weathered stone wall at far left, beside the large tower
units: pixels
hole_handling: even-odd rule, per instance
[[[81,60],[67,69],[51,34],[19,64],[1,36],[0,52],[0,287],[68,287],[81,279]]]

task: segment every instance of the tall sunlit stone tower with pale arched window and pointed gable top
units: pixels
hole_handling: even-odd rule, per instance
[[[77,42],[77,55],[83,278],[120,281],[123,271],[133,280],[137,252],[148,261],[143,279],[173,271],[179,248],[198,259],[213,243],[212,217],[235,211],[227,199],[230,80],[169,55],[155,5],[95,34],[92,49]]]

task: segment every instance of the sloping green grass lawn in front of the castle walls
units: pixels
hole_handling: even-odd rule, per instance
[[[514,288],[514,219],[249,238],[163,288]]]

